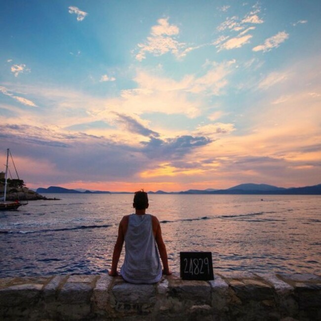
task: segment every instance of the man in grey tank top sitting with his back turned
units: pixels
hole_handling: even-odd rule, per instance
[[[160,222],[156,216],[146,214],[148,206],[147,193],[143,190],[135,192],[135,214],[125,215],[120,221],[110,276],[118,275],[117,265],[124,241],[125,258],[120,275],[125,281],[150,284],[160,281],[162,273],[171,274]]]

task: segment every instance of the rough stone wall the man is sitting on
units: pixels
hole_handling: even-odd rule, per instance
[[[108,275],[0,279],[0,320],[321,320],[321,277],[220,273],[130,284]]]

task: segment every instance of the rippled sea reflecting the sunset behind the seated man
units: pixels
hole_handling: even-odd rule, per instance
[[[0,212],[0,277],[106,273],[133,195],[49,197],[61,200]],[[149,198],[173,271],[179,272],[180,251],[210,251],[214,272],[321,274],[320,196]]]

